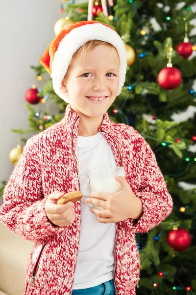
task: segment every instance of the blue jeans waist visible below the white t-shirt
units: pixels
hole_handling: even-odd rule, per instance
[[[95,287],[73,290],[72,295],[115,295],[114,281],[112,279]]]

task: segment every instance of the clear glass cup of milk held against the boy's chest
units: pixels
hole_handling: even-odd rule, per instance
[[[78,180],[85,180],[90,184],[92,192],[116,193],[121,190],[121,184],[115,180],[114,175],[124,177],[124,167],[100,168],[88,171],[88,175],[79,174],[73,178],[73,187]],[[89,207],[104,210],[105,208],[85,202],[87,197],[83,196],[82,201]]]

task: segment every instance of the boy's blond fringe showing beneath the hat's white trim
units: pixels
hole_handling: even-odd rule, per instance
[[[98,45],[106,45],[110,48],[115,48],[112,44],[105,42],[105,41],[101,41],[101,40],[89,40],[86,43],[84,43],[82,46],[80,46],[73,54],[72,60],[70,62],[73,62],[73,60],[80,56],[79,59],[81,59],[82,57],[84,57],[84,55],[86,53],[88,53],[89,51],[91,51],[92,49],[94,49],[95,47],[97,47]],[[115,48],[116,49],[116,48]]]

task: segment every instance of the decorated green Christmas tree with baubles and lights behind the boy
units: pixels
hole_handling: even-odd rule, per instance
[[[137,234],[138,295],[196,294],[196,113],[180,122],[173,120],[196,106],[195,3],[62,1],[62,18],[54,25],[57,35],[75,22],[97,20],[115,29],[125,43],[126,81],[108,114],[112,121],[133,126],[150,144],[174,202],[165,221],[147,234]],[[67,106],[55,94],[46,70],[41,65],[32,68],[40,82],[25,93],[30,129],[13,129],[19,135],[42,132],[64,117]],[[40,86],[42,79],[47,82]],[[56,114],[49,110],[51,102],[59,108]],[[30,104],[39,105],[40,111]],[[23,152],[22,141],[25,138],[20,137],[10,153],[13,164]]]

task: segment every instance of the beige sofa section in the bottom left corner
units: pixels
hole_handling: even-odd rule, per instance
[[[26,264],[33,243],[0,223],[0,295],[23,295]]]

